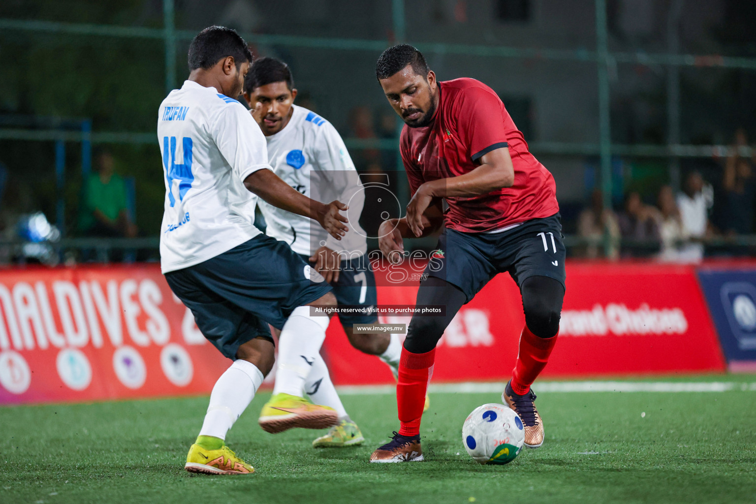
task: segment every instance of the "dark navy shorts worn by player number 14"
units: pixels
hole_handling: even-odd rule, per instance
[[[330,292],[308,277],[311,267],[287,243],[264,234],[207,261],[166,273],[171,290],[194,314],[215,348],[236,359],[240,345],[271,339],[294,308]]]

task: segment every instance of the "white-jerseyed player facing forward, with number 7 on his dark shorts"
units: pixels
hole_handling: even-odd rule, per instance
[[[396,376],[401,339],[395,334],[355,333],[355,323],[375,323],[370,312],[376,305],[376,283],[367,260],[367,239],[358,224],[364,204],[364,188],[342,138],[327,120],[293,104],[296,89],[286,63],[262,57],[253,63],[244,83],[244,98],[268,144],[273,171],[293,188],[313,199],[349,202],[350,230],[334,240],[300,215],[261,202],[265,233],[290,244],[294,252],[333,286],[339,307],[364,308],[363,314],[339,314],[352,345],[366,354],[378,355]],[[321,358],[311,364],[305,393],[317,404],[339,412],[339,425],[313,442],[314,447],[360,444],[362,434],[349,418],[328,369]],[[277,374],[277,379],[278,379]]]

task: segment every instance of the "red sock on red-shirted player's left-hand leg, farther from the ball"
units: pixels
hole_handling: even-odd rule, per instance
[[[435,348],[425,354],[413,354],[406,348],[401,348],[396,405],[399,411],[399,434],[403,436],[420,434],[425,396],[430,377],[433,376],[433,360]]]

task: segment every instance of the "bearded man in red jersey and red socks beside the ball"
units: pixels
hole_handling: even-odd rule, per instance
[[[446,311],[412,317],[396,387],[401,427],[370,462],[423,460],[420,418],[435,345],[462,305],[504,271],[519,286],[525,326],[502,400],[522,419],[525,446],[540,447],[544,426],[530,385],[556,342],[565,293],[554,179],[528,152],[497,94],[482,82],[436,81],[423,54],[406,44],[383,51],[376,76],[406,123],[400,149],[413,195],[405,217],[381,224],[380,249],[389,260],[401,261],[403,238],[443,226],[417,305],[445,305]]]

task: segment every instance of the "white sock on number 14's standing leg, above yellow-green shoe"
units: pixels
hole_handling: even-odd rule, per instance
[[[253,363],[234,360],[212,388],[200,436],[225,439],[228,429],[249,406],[264,378]]]

